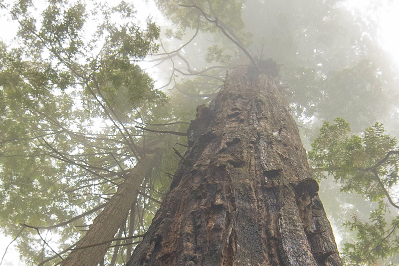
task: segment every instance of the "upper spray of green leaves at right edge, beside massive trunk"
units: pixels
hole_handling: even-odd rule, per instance
[[[399,157],[394,154],[383,161],[389,151],[397,150],[398,141],[386,135],[380,123],[367,128],[359,137],[349,135],[349,124],[343,119],[334,121],[333,125],[324,122],[308,153],[309,163],[334,175],[343,191],[357,192],[372,201],[384,198],[373,169],[383,176],[386,188],[398,182]]]

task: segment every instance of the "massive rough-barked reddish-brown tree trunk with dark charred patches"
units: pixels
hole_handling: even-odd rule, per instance
[[[274,133],[274,134],[273,134]],[[127,266],[341,266],[276,79],[226,81]]]

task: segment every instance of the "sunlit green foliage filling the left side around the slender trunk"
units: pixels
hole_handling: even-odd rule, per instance
[[[131,5],[99,7],[93,40],[84,37],[90,16],[80,2],[49,1],[40,20],[31,11],[30,2],[15,4],[20,46],[0,46],[0,226],[12,237],[23,229],[18,249],[27,265],[38,265],[54,253],[24,224],[40,227],[55,250],[75,243],[81,237],[75,226],[91,224],[100,210],[62,223],[112,197],[138,153],[160,142],[143,138],[135,125],[154,121],[152,112],[158,120],[170,112],[158,111],[168,98],[137,65],[157,51],[160,29],[150,20],[139,26]],[[118,14],[121,23],[113,22]],[[168,145],[164,140],[157,145]],[[160,169],[173,172],[168,164],[176,167],[177,160]],[[160,200],[169,177],[154,171],[148,178],[143,191]],[[156,207],[146,201],[133,231],[151,223]]]

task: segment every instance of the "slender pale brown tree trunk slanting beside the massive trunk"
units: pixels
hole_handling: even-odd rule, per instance
[[[151,154],[140,160],[119,185],[118,191],[109,200],[108,205],[94,219],[86,235],[79,240],[74,250],[61,263],[61,266],[97,266],[104,258],[111,242],[124,220],[129,209],[136,201],[147,174],[159,162],[162,153]],[[90,247],[88,247],[90,246]],[[87,247],[87,248],[85,248]]]

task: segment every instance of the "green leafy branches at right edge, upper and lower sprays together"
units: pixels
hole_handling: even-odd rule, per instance
[[[354,243],[344,244],[346,264],[375,265],[378,260],[391,258],[399,252],[395,233],[399,217],[388,222],[390,217],[384,202],[387,191],[394,190],[398,184],[398,141],[385,134],[380,123],[356,136],[350,135],[351,129],[345,120],[336,118],[334,121],[331,125],[324,122],[308,153],[309,163],[316,168],[319,178],[328,172],[339,182],[342,191],[357,192],[369,202],[378,202],[369,222],[354,215],[352,222],[344,223],[351,231],[356,231],[357,236]]]

